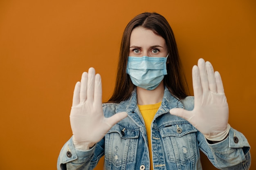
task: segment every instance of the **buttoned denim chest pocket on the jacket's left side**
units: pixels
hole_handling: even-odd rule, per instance
[[[116,167],[135,161],[139,132],[139,128],[115,124],[105,135],[105,161]]]

